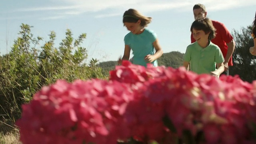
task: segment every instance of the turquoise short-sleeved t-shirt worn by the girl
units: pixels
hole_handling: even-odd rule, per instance
[[[132,60],[133,64],[147,66],[148,62],[146,62],[145,56],[155,53],[153,46],[154,41],[156,41],[156,34],[147,28],[145,28],[144,32],[141,34],[132,34],[132,32],[126,34],[124,44],[130,46],[132,49],[132,54],[134,55]],[[158,66],[157,60],[154,60],[152,64]]]

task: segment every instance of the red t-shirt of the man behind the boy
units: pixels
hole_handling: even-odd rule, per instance
[[[222,54],[225,58],[228,52],[227,43],[231,42],[231,40],[233,40],[233,37],[231,36],[226,26],[224,26],[224,24],[215,20],[212,20],[212,24],[214,28],[216,28],[216,37],[211,41],[212,43],[220,47],[220,50],[222,51]],[[196,40],[193,38],[193,35],[191,33],[191,43],[193,42],[196,42]],[[228,66],[233,66],[232,56],[228,62]]]

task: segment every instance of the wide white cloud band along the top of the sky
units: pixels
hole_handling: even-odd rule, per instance
[[[122,15],[128,8],[136,8],[143,13],[161,10],[178,9],[192,11],[196,3],[202,3],[208,11],[226,10],[241,6],[256,5],[256,0],[57,0],[62,6],[22,8],[18,12],[55,11],[58,16],[48,19],[63,18],[67,15],[78,15],[95,12],[96,18]],[[56,0],[55,0],[56,2]],[[104,11],[104,14],[102,12]]]

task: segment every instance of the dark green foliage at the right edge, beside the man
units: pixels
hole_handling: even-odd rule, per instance
[[[253,46],[251,36],[251,26],[241,28],[240,31],[234,30],[233,36],[236,42],[236,49],[233,54],[234,66],[230,67],[230,75],[239,75],[247,82],[256,79],[256,56],[252,56],[249,48]]]

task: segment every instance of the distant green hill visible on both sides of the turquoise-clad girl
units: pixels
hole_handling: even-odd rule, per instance
[[[158,59],[158,66],[170,66],[172,68],[178,68],[182,66],[183,64],[183,55],[180,52],[169,52],[164,53],[159,59]],[[110,70],[114,70],[115,66],[117,65],[117,61],[107,61],[107,62],[101,62],[98,64],[104,72],[104,74],[108,75],[108,72]]]

